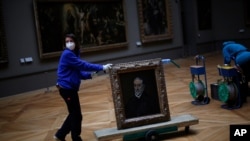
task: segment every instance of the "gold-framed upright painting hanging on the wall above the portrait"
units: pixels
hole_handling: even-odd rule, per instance
[[[169,0],[137,0],[142,43],[173,38]]]

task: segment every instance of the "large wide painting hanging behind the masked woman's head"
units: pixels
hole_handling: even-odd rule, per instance
[[[78,37],[81,52],[126,47],[124,0],[34,0],[40,58],[59,56],[64,35]]]

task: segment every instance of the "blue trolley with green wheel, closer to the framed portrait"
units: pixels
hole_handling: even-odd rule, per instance
[[[201,55],[196,55],[195,61],[196,64],[190,66],[192,81],[189,83],[189,90],[191,96],[194,98],[194,101],[191,103],[194,105],[209,104],[210,98],[208,97],[207,92],[205,58]],[[200,62],[202,62],[202,65],[199,65]],[[204,76],[204,82],[200,78],[201,75]]]

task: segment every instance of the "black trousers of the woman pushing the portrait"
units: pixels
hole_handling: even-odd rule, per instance
[[[75,90],[59,89],[61,97],[64,99],[68,108],[68,116],[56,136],[65,140],[66,135],[71,132],[73,141],[82,141],[80,134],[82,129],[82,113],[78,92]]]

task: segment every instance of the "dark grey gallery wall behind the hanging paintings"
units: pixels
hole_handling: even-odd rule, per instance
[[[192,18],[182,21],[180,3],[184,1],[170,0],[173,22],[171,41],[137,47],[135,43],[140,41],[140,34],[136,0],[126,0],[128,47],[86,53],[82,58],[94,63],[119,63],[156,57],[175,59],[213,51],[222,40],[244,39],[244,43],[249,44],[245,40],[250,37],[250,29],[244,23],[243,0],[212,0],[213,27],[209,31],[197,29],[196,0],[186,3],[186,10],[191,12],[185,14]],[[58,58],[39,58],[33,1],[2,0],[2,3],[9,62],[0,69],[0,97],[54,86]],[[190,28],[183,31],[183,24],[190,25]],[[239,33],[239,29],[245,32]],[[183,42],[184,34],[188,37],[188,44]],[[20,64],[20,58],[24,57],[32,57],[33,63]]]

